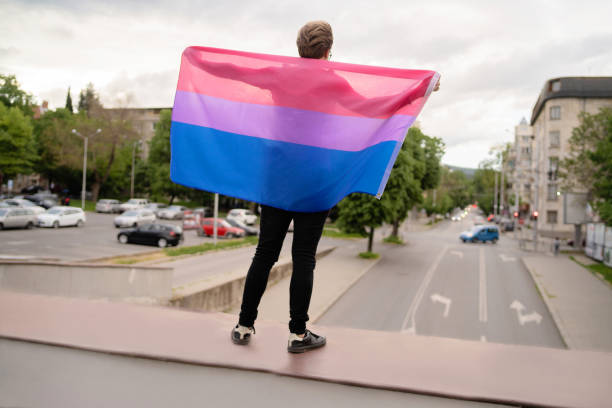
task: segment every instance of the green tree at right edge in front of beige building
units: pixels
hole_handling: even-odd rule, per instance
[[[582,112],[579,119],[559,165],[562,188],[586,190],[601,219],[612,225],[612,108]]]

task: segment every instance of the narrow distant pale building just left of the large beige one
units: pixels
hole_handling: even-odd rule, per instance
[[[514,145],[508,163],[514,194],[512,211],[519,211],[521,217],[529,215],[533,200],[533,139],[533,127],[523,118],[514,127]]]

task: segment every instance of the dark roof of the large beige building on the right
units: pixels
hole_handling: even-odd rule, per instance
[[[560,87],[555,88],[554,83]],[[531,125],[535,123],[546,101],[556,98],[612,98],[612,77],[560,77],[546,81],[533,107]]]

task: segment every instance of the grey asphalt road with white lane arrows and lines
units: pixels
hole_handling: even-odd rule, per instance
[[[404,232],[406,246],[377,244],[380,262],[317,324],[564,348],[512,233],[461,243],[472,225],[468,216]]]

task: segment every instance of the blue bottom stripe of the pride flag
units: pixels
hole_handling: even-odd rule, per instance
[[[352,192],[378,193],[397,144],[331,150],[172,122],[170,178],[285,210],[322,211]]]

